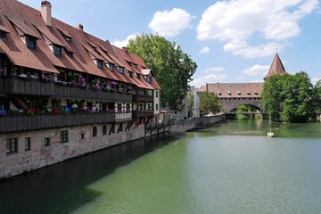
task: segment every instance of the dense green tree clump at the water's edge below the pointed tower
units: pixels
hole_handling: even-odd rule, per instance
[[[264,83],[261,107],[263,111],[268,111],[273,120],[307,121],[317,111],[317,103],[320,102],[320,84],[313,86],[304,71],[292,76],[272,76]]]

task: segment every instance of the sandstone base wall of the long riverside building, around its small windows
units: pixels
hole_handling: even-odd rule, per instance
[[[12,177],[144,136],[144,125],[130,128],[125,132],[127,123],[123,123],[123,131],[117,133],[119,125],[116,124],[116,132],[111,133],[111,136],[109,135],[111,124],[106,126],[106,135],[103,135],[103,124],[2,134],[0,135],[0,178]],[[92,136],[93,127],[97,128],[97,136]],[[61,131],[68,131],[67,143],[61,143]],[[84,134],[84,139],[81,139],[81,134]],[[25,150],[27,137],[30,138],[29,151]],[[50,137],[49,146],[45,146],[46,137]],[[17,138],[18,149],[17,152],[7,153],[6,141],[11,138]]]

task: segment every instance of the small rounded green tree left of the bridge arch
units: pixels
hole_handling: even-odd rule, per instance
[[[203,114],[218,113],[222,105],[218,103],[218,95],[213,92],[203,92],[200,96],[198,108]]]

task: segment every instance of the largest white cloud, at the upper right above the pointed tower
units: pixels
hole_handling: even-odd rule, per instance
[[[318,4],[318,0],[218,1],[203,12],[197,38],[218,39],[226,43],[226,52],[245,58],[271,55],[274,43],[251,46],[248,39],[254,33],[276,41],[295,37],[300,33],[298,21]]]

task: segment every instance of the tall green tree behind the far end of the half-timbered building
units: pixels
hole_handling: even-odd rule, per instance
[[[136,35],[129,40],[128,50],[140,56],[161,86],[161,106],[172,111],[184,108],[183,100],[197,65],[180,45],[152,34]]]

